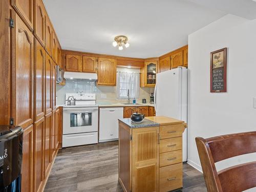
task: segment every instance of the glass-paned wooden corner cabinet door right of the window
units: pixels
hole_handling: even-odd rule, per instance
[[[147,87],[154,87],[156,85],[157,61],[145,62],[145,82]]]

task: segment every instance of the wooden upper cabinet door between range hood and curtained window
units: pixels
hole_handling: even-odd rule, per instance
[[[115,86],[116,85],[116,59],[98,58],[97,85],[99,86]]]

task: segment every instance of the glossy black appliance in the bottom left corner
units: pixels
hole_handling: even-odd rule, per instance
[[[22,138],[20,126],[0,125],[0,192],[21,191]]]

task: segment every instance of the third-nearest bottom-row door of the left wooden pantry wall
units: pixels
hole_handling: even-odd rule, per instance
[[[52,130],[52,112],[45,116],[45,177],[50,172],[51,163],[51,130]]]

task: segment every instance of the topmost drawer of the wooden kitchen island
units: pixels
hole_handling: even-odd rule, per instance
[[[181,137],[183,129],[183,124],[160,126],[160,139]]]

